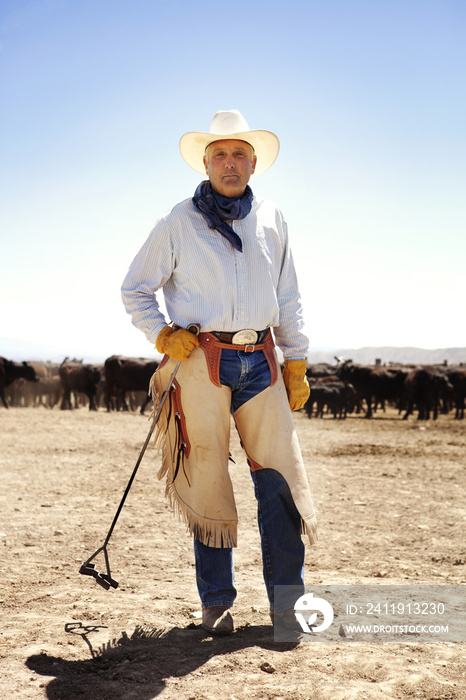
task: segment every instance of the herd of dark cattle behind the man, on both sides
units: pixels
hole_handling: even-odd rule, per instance
[[[144,413],[149,381],[158,362],[112,355],[102,365],[65,358],[50,362],[13,362],[0,357],[0,399],[5,408],[39,407],[63,410],[88,405],[89,410]],[[309,418],[348,414],[371,418],[386,405],[403,419],[435,420],[439,413],[464,419],[466,369],[463,365],[378,366],[337,360],[335,365],[310,365],[311,394],[304,410]]]

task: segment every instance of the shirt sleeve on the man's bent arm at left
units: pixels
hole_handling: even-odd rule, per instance
[[[161,219],[131,263],[121,287],[123,304],[133,325],[154,345],[167,325],[156,293],[170,278],[173,259],[172,237],[166,221]]]

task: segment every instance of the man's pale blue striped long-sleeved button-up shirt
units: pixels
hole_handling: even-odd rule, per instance
[[[207,227],[191,199],[157,221],[122,285],[133,324],[155,344],[167,325],[156,294],[163,290],[170,320],[183,328],[192,322],[202,331],[271,326],[285,360],[305,359],[308,339],[282,213],[254,197],[248,216],[230,224],[242,253]]]

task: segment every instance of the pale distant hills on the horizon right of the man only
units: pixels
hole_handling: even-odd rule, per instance
[[[311,348],[308,354],[308,363],[325,362],[334,365],[336,364],[335,357],[353,360],[361,365],[375,365],[378,360],[381,364],[438,365],[447,362],[448,365],[456,365],[466,364],[466,348],[439,348],[437,350],[411,347],[365,347],[351,350],[313,350]]]

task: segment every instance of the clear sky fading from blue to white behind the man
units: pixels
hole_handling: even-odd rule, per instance
[[[122,280],[202,179],[182,134],[239,109],[280,139],[250,184],[309,358],[466,346],[465,30],[463,0],[0,0],[0,338],[151,357]]]

